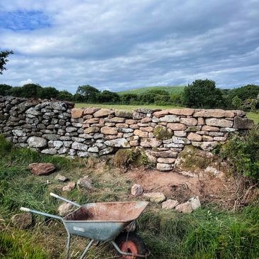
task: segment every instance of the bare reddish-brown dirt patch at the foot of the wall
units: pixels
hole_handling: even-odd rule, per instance
[[[177,199],[179,202],[186,202],[193,196],[199,196],[203,202],[231,202],[229,198],[236,187],[231,178],[188,177],[177,170],[160,172],[138,168],[128,170],[126,177],[140,184],[145,192],[163,192],[167,198]]]

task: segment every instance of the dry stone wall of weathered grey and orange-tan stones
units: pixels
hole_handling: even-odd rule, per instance
[[[142,148],[158,170],[172,170],[184,145],[210,151],[229,133],[253,127],[243,111],[73,108],[62,101],[0,97],[0,133],[22,147],[85,158]]]

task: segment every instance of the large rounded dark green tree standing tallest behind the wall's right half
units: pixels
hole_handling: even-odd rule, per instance
[[[215,108],[224,104],[221,89],[209,79],[197,79],[184,87],[184,104],[189,107]]]

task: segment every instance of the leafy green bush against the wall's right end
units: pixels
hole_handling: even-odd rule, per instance
[[[259,182],[259,126],[244,136],[234,135],[222,146],[220,155],[231,163],[234,173]]]

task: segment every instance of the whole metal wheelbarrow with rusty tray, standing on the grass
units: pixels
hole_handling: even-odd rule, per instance
[[[87,251],[91,248],[94,241],[97,241],[97,243],[108,241],[121,255],[121,258],[147,258],[150,255],[150,252],[145,248],[145,244],[136,233],[123,232],[126,226],[138,219],[146,206],[148,206],[148,202],[97,202],[81,206],[57,194],[50,193],[50,196],[73,204],[77,206],[77,209],[65,217],[24,207],[21,207],[21,211],[48,216],[62,221],[67,230],[66,259],[69,258],[70,254],[72,235],[90,239],[80,259],[87,255]]]

